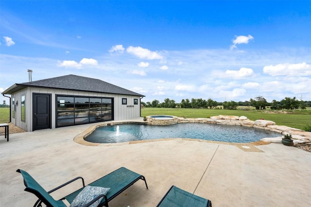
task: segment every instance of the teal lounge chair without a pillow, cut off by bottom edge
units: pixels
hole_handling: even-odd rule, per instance
[[[156,207],[212,207],[212,202],[172,186]]]

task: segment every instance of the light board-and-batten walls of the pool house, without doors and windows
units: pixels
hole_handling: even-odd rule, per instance
[[[113,98],[114,103],[114,120],[125,120],[140,117],[140,96],[129,96],[129,95],[118,95],[118,94],[104,94],[104,93],[93,93],[83,91],[70,91],[70,90],[59,90],[59,89],[45,89],[45,88],[26,88],[20,90],[14,94],[15,102],[18,100],[17,111],[15,118],[12,118],[12,122],[17,126],[26,131],[33,130],[33,94],[51,94],[51,127],[56,126],[56,95],[65,96],[91,96],[91,97],[108,97]],[[21,96],[25,95],[25,106],[26,106],[26,120],[21,121]],[[122,98],[127,98],[127,104],[122,105]],[[134,99],[138,99],[138,104],[134,105]],[[132,107],[133,106],[133,107]],[[12,111],[11,111],[12,113]]]

